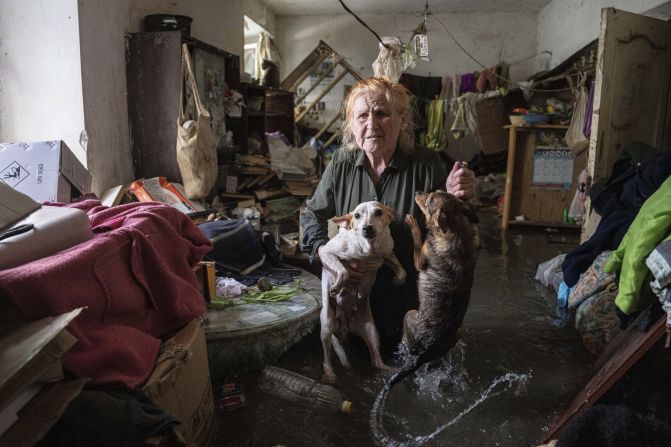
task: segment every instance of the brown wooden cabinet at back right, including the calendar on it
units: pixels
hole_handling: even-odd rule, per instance
[[[578,228],[565,223],[563,214],[575,195],[586,153],[573,157],[564,146],[540,141],[551,140],[553,136],[559,140],[568,126],[505,127],[509,131],[508,163],[501,228],[505,230],[509,225]],[[524,220],[516,220],[516,216],[524,216]]]

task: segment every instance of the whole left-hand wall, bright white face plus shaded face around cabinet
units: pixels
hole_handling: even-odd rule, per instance
[[[242,0],[0,1],[0,141],[62,139],[101,193],[133,180],[124,33],[147,14],[193,17],[197,39],[242,55]],[[80,51],[81,48],[81,51]],[[79,144],[88,133],[88,153]]]

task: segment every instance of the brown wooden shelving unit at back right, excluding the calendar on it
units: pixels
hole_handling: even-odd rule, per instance
[[[529,225],[555,228],[580,228],[562,221],[563,210],[571,205],[578,186],[578,175],[585,167],[586,151],[573,158],[573,174],[569,189],[549,189],[533,183],[536,131],[566,132],[568,126],[535,125],[504,126],[508,129],[508,163],[503,196],[501,228]],[[525,220],[511,216],[525,216]]]

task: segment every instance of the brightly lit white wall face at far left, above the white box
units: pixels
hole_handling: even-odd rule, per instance
[[[84,108],[76,0],[0,1],[0,141],[79,145]]]

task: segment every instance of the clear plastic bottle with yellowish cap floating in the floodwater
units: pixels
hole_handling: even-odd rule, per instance
[[[286,369],[266,366],[259,377],[259,387],[265,393],[316,410],[334,413],[352,411],[352,402],[344,400],[332,386]]]

